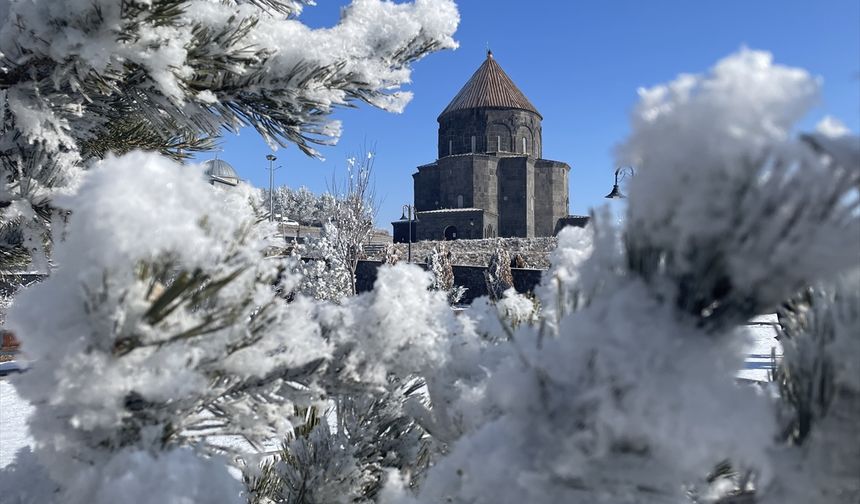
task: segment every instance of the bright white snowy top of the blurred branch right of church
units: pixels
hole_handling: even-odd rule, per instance
[[[683,74],[668,84],[639,89],[631,136],[619,162],[632,164],[630,215],[637,223],[666,221],[655,241],[684,242],[709,223],[713,233],[730,225],[719,202],[700,191],[728,191],[727,183],[788,139],[792,126],[816,103],[819,80],[805,70],[773,63],[770,53],[742,49],[706,74]],[[720,182],[720,179],[729,180]],[[661,197],[654,197],[660,194]]]

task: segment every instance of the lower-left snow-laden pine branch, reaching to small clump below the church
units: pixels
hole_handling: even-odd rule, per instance
[[[237,502],[221,454],[252,460],[300,424],[296,406],[372,401],[390,378],[445,360],[458,324],[429,275],[386,268],[374,293],[342,305],[288,302],[300,279],[268,257],[280,244],[255,195],[198,170],[109,157],[58,201],[71,212],[60,267],[8,319],[38,362],[18,383],[35,406],[36,455],[19,461],[36,465],[10,470],[46,479],[8,495],[50,487],[56,502],[115,502],[113,481],[135,471],[152,502]],[[392,307],[411,317],[390,319]],[[160,485],[178,465],[187,479]]]

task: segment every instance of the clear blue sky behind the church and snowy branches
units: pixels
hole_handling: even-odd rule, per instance
[[[301,19],[336,24],[346,1],[319,0]],[[335,114],[343,135],[325,161],[294,147],[276,152],[276,185],[326,190],[333,171],[365,145],[376,145],[377,225],[391,230],[412,200],[412,173],[436,158],[436,117],[485,57],[496,61],[544,117],[544,157],[570,164],[570,211],[585,214],[611,189],[613,146],[628,131],[636,89],[698,73],[741,46],[767,50],[776,63],[824,81],[820,105],[801,125],[830,114],[860,130],[860,1],[461,0],[460,48],[418,62],[413,101],[402,114],[362,106]],[[271,151],[251,129],[227,135],[222,159],[258,187],[268,186]],[[199,159],[209,159],[201,155]]]

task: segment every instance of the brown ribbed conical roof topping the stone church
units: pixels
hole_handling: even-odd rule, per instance
[[[516,108],[540,115],[532,102],[496,63],[492,51],[487,51],[487,59],[439,117],[455,110],[481,107]]]

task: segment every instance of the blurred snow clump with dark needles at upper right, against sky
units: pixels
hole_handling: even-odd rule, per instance
[[[754,312],[742,315],[772,310],[792,289],[852,264],[860,173],[822,163],[790,138],[819,84],[770,53],[742,49],[705,74],[640,90],[618,151],[637,169],[627,226],[634,250],[665,252],[663,269],[678,278],[705,272],[699,285],[713,285],[705,290],[731,282],[737,298],[716,300],[718,311],[752,306],[741,298],[755,296]],[[697,303],[689,309],[718,306]]]

